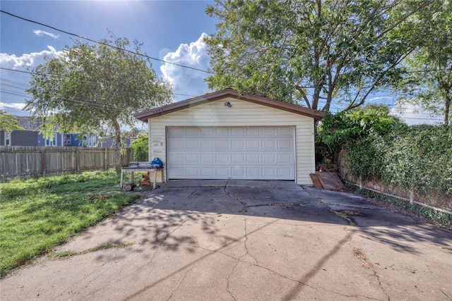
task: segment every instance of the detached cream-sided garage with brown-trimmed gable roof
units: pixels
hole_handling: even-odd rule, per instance
[[[149,160],[167,180],[294,180],[312,185],[314,120],[324,113],[232,89],[136,114],[148,122]]]

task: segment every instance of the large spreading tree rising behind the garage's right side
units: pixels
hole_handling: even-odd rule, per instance
[[[234,87],[311,109],[364,104],[400,75],[417,40],[410,16],[434,0],[216,0],[206,12],[210,88]]]

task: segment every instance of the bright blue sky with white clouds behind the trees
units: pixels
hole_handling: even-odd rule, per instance
[[[206,15],[213,1],[18,1],[1,0],[2,11],[34,20],[90,39],[117,37],[138,39],[148,56],[201,70],[209,67],[203,38],[215,32],[217,20]],[[0,13],[0,67],[30,71],[44,56],[75,44],[78,37]],[[82,39],[83,42],[88,42]],[[152,61],[157,75],[173,85],[174,101],[209,92],[203,73],[160,61]],[[0,70],[0,109],[13,115],[22,111],[30,75]],[[393,104],[391,93],[376,94],[369,102]],[[408,123],[425,123],[426,113],[405,107]],[[416,118],[422,118],[416,120]]]

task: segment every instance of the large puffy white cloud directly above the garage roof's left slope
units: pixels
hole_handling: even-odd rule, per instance
[[[182,66],[207,70],[210,62],[207,45],[204,42],[204,39],[207,37],[208,35],[203,33],[196,42],[180,44],[176,51],[167,53],[163,57],[163,60],[178,63]],[[208,92],[208,87],[206,82],[204,82],[204,78],[207,78],[209,75],[208,73],[184,68],[171,63],[165,63],[160,66],[160,71],[162,72],[163,79],[173,85],[174,93],[198,96]],[[186,98],[190,97],[176,95],[177,100]]]

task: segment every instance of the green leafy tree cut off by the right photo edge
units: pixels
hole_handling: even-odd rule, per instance
[[[433,114],[442,113],[443,123],[451,123],[452,111],[452,2],[436,1],[418,14],[419,26],[405,32],[419,39],[419,49],[408,56],[408,73],[396,88],[405,98],[400,104],[416,104]],[[412,28],[413,29],[413,28]]]

